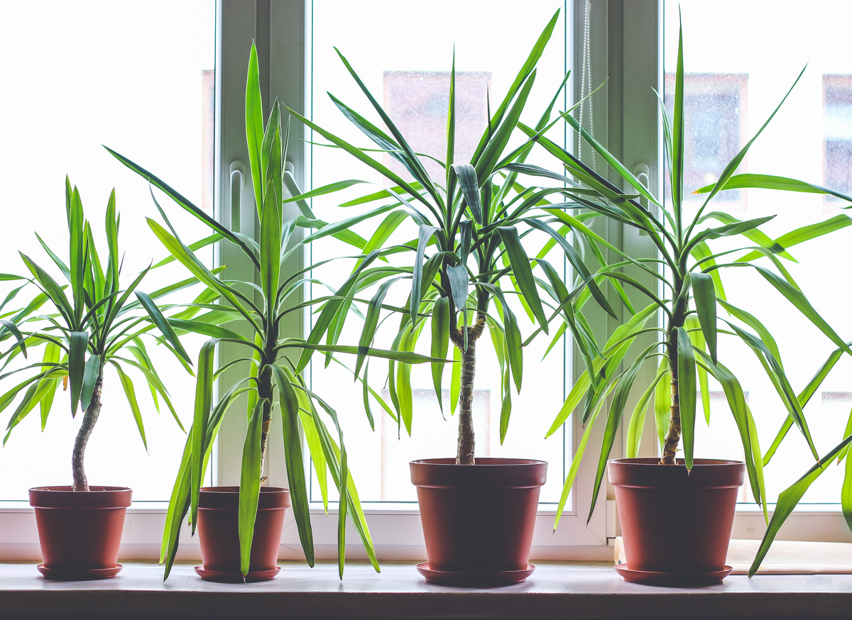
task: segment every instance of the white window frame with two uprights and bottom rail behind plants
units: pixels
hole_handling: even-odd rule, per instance
[[[575,66],[582,58],[584,26],[584,0],[574,0],[573,12],[568,12],[567,39],[573,45]],[[216,214],[221,221],[230,223],[231,181],[233,162],[242,162],[248,170],[248,153],[245,146],[245,63],[252,40],[260,55],[261,85],[264,102],[275,97],[299,112],[305,110],[306,75],[310,69],[308,24],[310,0],[219,0],[216,19]],[[569,3],[570,6],[570,3]],[[591,0],[590,42],[591,82],[606,85],[596,95],[595,133],[628,169],[648,166],[648,184],[652,192],[662,187],[663,170],[659,165],[662,154],[660,119],[656,99],[651,87],[662,84],[662,32],[663,0]],[[573,90],[579,93],[581,72],[573,72]],[[291,145],[302,138],[302,127],[294,123]],[[300,187],[307,187],[304,179],[305,153],[291,148],[288,159],[293,164],[293,175]],[[584,159],[590,159],[590,150],[584,149]],[[613,177],[613,181],[616,179]],[[240,194],[243,221],[252,225],[254,218],[253,194],[244,187]],[[632,255],[654,255],[655,250],[647,237],[615,222],[602,222],[599,232]],[[245,224],[244,224],[245,227]],[[240,264],[241,257],[223,247],[219,262],[227,262],[232,270],[250,273],[250,265]],[[647,283],[655,284],[655,283]],[[613,307],[619,300],[613,299]],[[292,336],[302,336],[302,318],[293,320],[288,329]],[[605,338],[617,327],[615,319],[600,312],[590,316],[596,336]],[[233,351],[223,347],[219,353],[222,361],[233,356]],[[574,353],[574,373],[579,374],[582,364]],[[650,373],[647,369],[643,372]],[[223,382],[233,379],[228,372]],[[574,379],[577,377],[574,376]],[[650,378],[650,377],[648,377]],[[237,405],[239,407],[239,405]],[[628,404],[630,407],[630,404]],[[583,428],[579,416],[572,416],[573,443],[576,447]],[[279,424],[279,422],[277,422]],[[212,481],[220,485],[239,484],[239,463],[245,437],[244,416],[226,416],[222,423],[220,439],[211,468]],[[278,433],[280,429],[278,428]],[[590,445],[600,445],[601,431],[590,438]],[[273,435],[276,431],[273,429]],[[623,456],[624,438],[619,437],[613,457]],[[656,456],[657,442],[652,425],[647,425],[642,438],[640,456]],[[573,507],[567,508],[559,529],[552,533],[555,510],[542,509],[538,513],[536,534],[533,538],[533,559],[536,560],[611,560],[611,537],[617,533],[614,517],[613,493],[603,485],[598,497],[598,508],[588,526],[585,515],[590,506],[590,495],[595,476],[596,462],[587,455],[580,467],[573,492]],[[560,463],[561,465],[561,463]],[[556,471],[557,468],[554,468]],[[559,468],[561,469],[561,467]],[[555,473],[551,472],[551,475]],[[286,470],[280,442],[270,442],[268,472],[270,484],[286,485]],[[606,500],[606,501],[605,501]],[[318,559],[337,557],[337,519],[334,509],[326,517],[322,510],[312,510],[314,543]],[[373,542],[380,560],[420,560],[425,557],[423,533],[417,510],[392,511],[366,508]],[[134,502],[125,521],[121,555],[124,558],[156,560],[164,524],[164,502]],[[762,514],[753,510],[738,510],[734,519],[734,538],[759,538],[765,525]],[[809,507],[796,511],[787,520],[779,539],[815,541],[852,541],[839,507]],[[365,558],[354,530],[348,535],[348,557]],[[279,557],[301,559],[299,543],[292,515],[288,514]],[[178,559],[200,557],[197,539],[184,531]],[[0,503],[0,561],[37,560],[40,550],[37,543],[32,508],[20,502]]]

